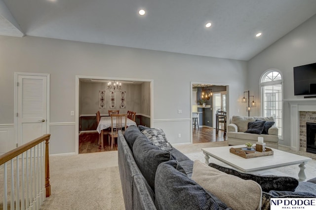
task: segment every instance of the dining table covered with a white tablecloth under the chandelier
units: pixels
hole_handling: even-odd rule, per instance
[[[113,120],[113,125],[116,128],[117,122],[116,120]],[[126,126],[131,126],[131,125],[135,125],[137,126],[136,122],[134,122],[133,120],[127,118],[126,119]],[[99,135],[99,142],[101,141],[101,148],[103,148],[103,135],[104,135],[104,130],[107,130],[109,128],[112,127],[112,122],[111,122],[111,117],[110,116],[105,116],[105,117],[101,117],[100,122],[98,124],[97,127],[97,132],[101,135]],[[122,127],[125,127],[125,119],[124,117],[122,118]]]

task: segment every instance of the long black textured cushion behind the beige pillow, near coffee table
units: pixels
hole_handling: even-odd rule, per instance
[[[294,191],[298,185],[298,180],[289,176],[275,176],[275,175],[253,175],[237,172],[234,169],[219,166],[215,163],[208,164],[221,172],[235,175],[242,179],[250,179],[260,184],[262,191],[269,192],[270,190],[280,191]]]

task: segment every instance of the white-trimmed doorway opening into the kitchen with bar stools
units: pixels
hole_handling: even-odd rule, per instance
[[[226,140],[224,123],[218,123],[216,134],[216,114],[224,111],[229,119],[229,87],[229,84],[191,82],[192,143]]]

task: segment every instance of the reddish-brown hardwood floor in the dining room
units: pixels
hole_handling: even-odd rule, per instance
[[[108,136],[104,135],[103,139],[104,139],[105,148],[99,149],[99,145],[98,145],[99,134],[97,132],[79,134],[79,154],[112,151],[111,146],[109,145],[109,142],[108,142]],[[117,143],[118,141],[117,139],[115,139],[113,150],[118,150]]]

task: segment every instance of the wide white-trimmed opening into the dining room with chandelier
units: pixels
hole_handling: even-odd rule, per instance
[[[121,89],[111,95],[110,90],[107,89],[109,81],[120,82]],[[82,89],[83,87],[85,89]],[[101,92],[103,92],[103,95],[100,95]],[[121,92],[124,93],[121,95]],[[123,100],[125,104],[121,104],[121,97],[125,97]],[[113,100],[115,103],[110,103]],[[132,109],[132,111],[136,111],[135,121],[138,122],[137,125],[146,124],[150,126],[153,123],[153,80],[76,76],[76,154],[85,153],[84,151],[79,152],[79,134],[83,134],[80,138],[86,138],[88,141],[91,141],[91,138],[93,138],[95,146],[99,148],[99,145],[97,145],[99,134],[96,131],[96,112],[99,111],[101,117],[108,116],[108,110],[113,109],[120,110],[119,113],[127,113],[128,110]],[[87,133],[92,134],[91,138],[87,137]],[[104,142],[108,142],[106,136],[104,136]],[[95,151],[99,150],[96,149]],[[101,151],[106,151],[106,149],[101,148]]]

